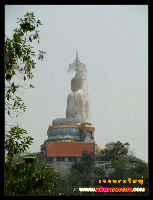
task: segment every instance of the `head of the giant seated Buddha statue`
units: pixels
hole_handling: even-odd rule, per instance
[[[83,80],[82,80],[81,77],[75,76],[74,78],[72,78],[72,80],[71,80],[71,90],[72,90],[72,92],[75,92],[75,91],[82,89],[82,85],[83,85]]]

